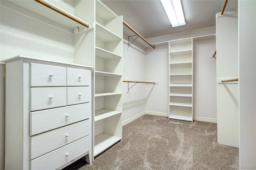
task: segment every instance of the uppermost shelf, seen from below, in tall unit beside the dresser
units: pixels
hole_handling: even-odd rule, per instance
[[[96,39],[108,43],[120,41],[122,38],[96,22]]]

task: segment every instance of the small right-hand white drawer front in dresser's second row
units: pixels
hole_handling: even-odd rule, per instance
[[[68,87],[68,105],[91,101],[91,87]]]

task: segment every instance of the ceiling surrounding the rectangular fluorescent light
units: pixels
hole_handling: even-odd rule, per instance
[[[142,37],[151,38],[186,30],[215,26],[215,15],[225,0],[181,0],[186,25],[172,28],[160,0],[102,0]],[[237,8],[237,0],[228,0],[226,10]],[[124,28],[127,36],[135,35]]]

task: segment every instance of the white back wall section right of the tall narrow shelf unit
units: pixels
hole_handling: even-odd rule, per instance
[[[217,119],[216,58],[212,58],[216,42],[196,42],[193,45],[194,117]]]

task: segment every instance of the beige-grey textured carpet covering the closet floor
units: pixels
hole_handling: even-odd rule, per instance
[[[216,123],[182,125],[166,117],[144,115],[123,127],[123,138],[86,164],[65,170],[226,170],[239,164],[238,148],[217,144]]]

